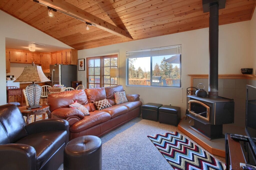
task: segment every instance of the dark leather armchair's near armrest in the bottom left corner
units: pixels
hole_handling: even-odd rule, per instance
[[[1,169],[36,169],[36,150],[25,144],[0,145]]]

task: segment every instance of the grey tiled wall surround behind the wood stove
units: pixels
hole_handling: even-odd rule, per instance
[[[219,96],[234,99],[235,113],[234,125],[245,126],[245,105],[246,105],[246,85],[256,87],[256,80],[248,79],[219,79],[218,80]],[[197,88],[199,83],[205,85],[208,94],[208,79],[193,79],[193,87]],[[200,86],[199,86],[200,87]],[[201,87],[200,87],[201,88]]]

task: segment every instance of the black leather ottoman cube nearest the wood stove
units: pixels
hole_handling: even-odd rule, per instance
[[[160,107],[158,120],[160,123],[178,126],[180,121],[180,107],[168,105]]]

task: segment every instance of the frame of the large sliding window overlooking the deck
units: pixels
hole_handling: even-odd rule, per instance
[[[155,86],[152,85],[152,73],[153,73],[153,57],[154,56],[148,56],[150,57],[150,86],[147,85],[133,85],[133,84],[129,84],[129,58],[126,58],[126,86],[134,86],[134,87],[149,87],[149,88],[182,88],[182,63],[181,63],[181,58],[182,58],[182,54],[180,54],[180,64],[179,64],[179,68],[180,68],[180,82],[179,82],[179,87],[178,86]],[[134,57],[136,58],[136,57]]]

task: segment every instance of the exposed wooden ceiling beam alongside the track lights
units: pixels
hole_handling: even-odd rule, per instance
[[[30,1],[33,1],[33,0],[30,0]],[[119,27],[116,27],[115,25],[112,25],[109,22],[106,22],[106,21],[90,14],[89,12],[86,12],[86,11],[84,11],[70,3],[67,3],[63,0],[37,0],[37,1],[46,6],[57,9],[58,11],[61,11],[68,15],[79,18],[83,21],[87,21],[92,24],[95,24],[96,27],[98,27],[102,30],[108,31],[114,35],[118,35],[120,37],[129,39],[129,40],[133,40],[132,36],[129,34],[128,31],[125,31]]]

